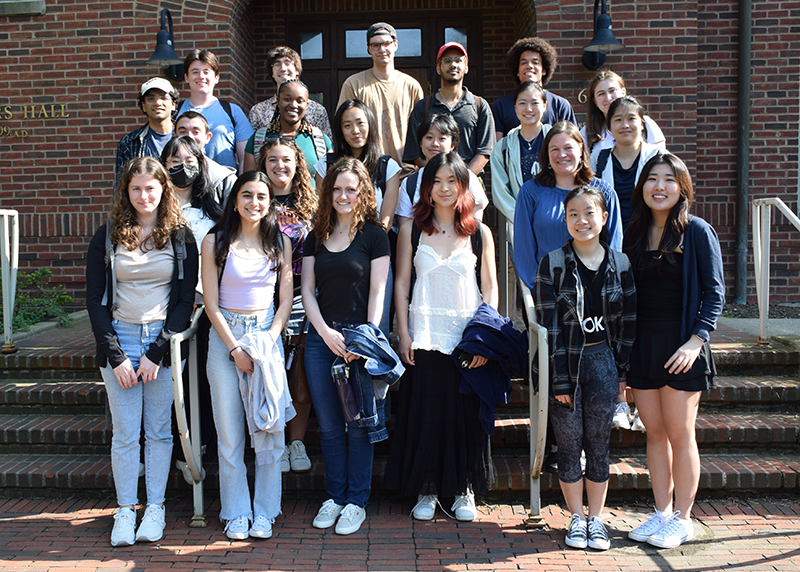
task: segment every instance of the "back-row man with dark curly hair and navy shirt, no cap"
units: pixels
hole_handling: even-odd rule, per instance
[[[526,81],[535,81],[544,87],[558,67],[555,48],[541,38],[517,40],[508,50],[506,61],[518,85]],[[547,109],[542,116],[542,123],[555,125],[559,121],[571,121],[577,125],[575,112],[569,101],[548,90],[544,90],[544,94],[547,98]],[[517,113],[514,111],[513,93],[495,101],[492,113],[498,141],[519,125]]]

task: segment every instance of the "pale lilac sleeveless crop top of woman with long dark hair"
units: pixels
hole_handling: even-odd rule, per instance
[[[228,260],[219,285],[219,306],[248,312],[272,306],[278,275],[269,258],[244,258],[228,249]]]

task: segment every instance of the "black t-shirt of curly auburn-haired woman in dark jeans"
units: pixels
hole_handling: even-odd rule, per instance
[[[325,322],[366,323],[370,263],[389,256],[386,231],[368,222],[356,233],[350,246],[342,252],[331,252],[324,244],[317,248],[317,237],[312,230],[303,253],[315,257],[317,304]]]

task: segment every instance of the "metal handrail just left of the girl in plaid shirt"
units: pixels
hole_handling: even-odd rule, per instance
[[[498,211],[499,212],[499,211]],[[515,300],[514,294],[511,291],[513,282],[508,280],[508,262],[513,264],[514,260],[514,230],[513,224],[500,213],[499,221],[499,242],[500,242],[500,309],[501,313],[508,316],[509,306],[513,307]],[[542,474],[542,464],[545,455],[545,440],[547,437],[547,411],[548,400],[550,398],[550,353],[547,344],[547,328],[540,325],[536,321],[536,312],[534,311],[533,296],[528,286],[519,278],[519,272],[514,267],[515,274],[517,274],[517,282],[522,295],[522,302],[525,307],[525,315],[528,319],[528,341],[529,348],[532,345],[532,340],[536,339],[536,353],[531,349],[528,350],[528,371],[531,371],[533,360],[539,360],[539,391],[535,390],[536,385],[533,380],[528,384],[528,415],[530,417],[530,434],[529,434],[529,460],[531,472],[531,487],[530,487],[530,504],[531,509],[528,514],[527,524],[541,525],[543,522],[541,512],[541,486],[539,478]],[[538,354],[538,358],[537,358]],[[538,395],[538,399],[535,397]],[[536,433],[534,435],[534,429]]]

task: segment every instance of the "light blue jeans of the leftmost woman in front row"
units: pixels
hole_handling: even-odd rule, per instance
[[[164,326],[163,321],[128,324],[114,320],[120,346],[133,369],[147,353]],[[152,381],[123,388],[109,363],[100,368],[111,410],[111,470],[117,489],[117,504],[138,504],[139,440],[144,419],[145,490],[148,504],[164,502],[172,459],[172,368],[161,365]]]

